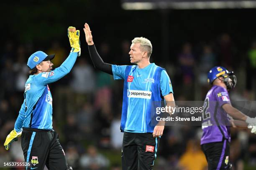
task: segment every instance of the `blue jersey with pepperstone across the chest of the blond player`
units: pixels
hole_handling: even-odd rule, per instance
[[[121,131],[153,133],[151,102],[163,101],[173,93],[167,72],[149,64],[140,69],[137,65],[112,65],[114,80],[124,80]]]

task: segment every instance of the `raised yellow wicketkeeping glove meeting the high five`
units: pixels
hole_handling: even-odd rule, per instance
[[[79,36],[80,36],[80,31],[76,30],[75,27],[70,26],[68,28],[69,42],[70,42],[70,46],[72,47],[70,52],[77,52],[77,56],[81,55]]]

